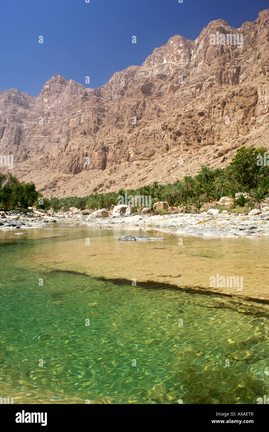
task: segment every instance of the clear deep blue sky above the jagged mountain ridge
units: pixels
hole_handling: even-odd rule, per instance
[[[265,0],[2,0],[0,90],[37,96],[54,73],[98,88],[173,35],[194,40],[218,18],[238,28],[267,8]]]

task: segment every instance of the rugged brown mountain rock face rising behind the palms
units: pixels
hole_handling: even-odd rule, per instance
[[[216,32],[242,34],[243,47],[210,44]],[[54,75],[38,98],[0,92],[0,154],[48,197],[169,183],[268,145],[268,75],[269,10],[240,29],[217,19],[99,89]]]

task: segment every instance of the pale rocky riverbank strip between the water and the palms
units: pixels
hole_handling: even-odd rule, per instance
[[[178,235],[233,238],[269,237],[269,211],[247,215],[243,213],[178,213],[153,216],[143,213],[133,213],[128,216],[108,214],[108,216],[101,218],[76,213],[47,215],[35,210],[27,213],[15,210],[7,213],[0,212],[0,230],[2,231],[44,228],[47,224],[55,222],[68,223],[70,226],[86,224],[93,229],[98,227],[113,229],[113,226],[136,226],[151,231],[173,232]]]

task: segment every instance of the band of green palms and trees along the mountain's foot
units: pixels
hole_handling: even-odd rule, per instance
[[[234,197],[237,192],[250,192],[251,199],[240,197],[236,201],[237,205],[244,207],[245,204],[253,206],[259,203],[269,194],[269,166],[258,165],[259,155],[266,153],[265,147],[255,149],[253,146],[246,148],[242,146],[237,150],[234,159],[226,168],[216,168],[214,170],[204,166],[195,177],[185,176],[182,180],[174,183],[162,185],[154,182],[151,185],[140,187],[139,189],[120,189],[119,192],[109,192],[107,194],[90,194],[86,197],[56,198],[50,200],[43,199],[43,205],[37,203],[37,207],[47,210],[52,208],[54,211],[69,210],[70,207],[84,209],[110,209],[117,205],[118,196],[151,196],[152,205],[157,201],[168,201],[170,206],[193,207],[199,211],[203,203],[219,200],[222,196]],[[10,177],[9,183],[3,186],[5,180],[1,176],[0,205],[4,208],[21,205],[32,206],[37,200],[38,192],[35,191],[33,183],[19,183]]]

